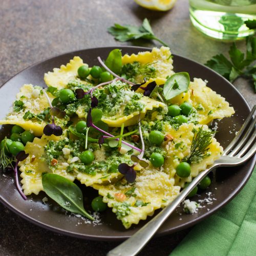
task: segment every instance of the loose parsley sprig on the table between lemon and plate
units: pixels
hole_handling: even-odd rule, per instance
[[[147,40],[157,40],[163,46],[167,46],[165,42],[155,36],[147,18],[143,20],[140,27],[131,25],[122,26],[120,24],[115,24],[113,27],[108,28],[108,32],[112,34],[116,40],[121,42],[143,38]]]

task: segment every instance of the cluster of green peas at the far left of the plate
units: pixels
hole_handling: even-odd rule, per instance
[[[35,136],[30,131],[25,131],[19,125],[14,125],[11,130],[10,139],[6,139],[7,149],[5,148],[6,153],[11,153],[13,156],[16,156],[20,151],[23,151],[27,142],[32,142]],[[0,148],[4,148],[5,139],[1,141]]]

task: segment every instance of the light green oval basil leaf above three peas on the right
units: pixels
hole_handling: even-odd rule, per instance
[[[187,91],[190,78],[188,73],[180,72],[170,76],[163,86],[163,95],[166,100]]]

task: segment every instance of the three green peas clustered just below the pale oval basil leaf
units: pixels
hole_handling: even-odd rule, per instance
[[[193,110],[193,105],[189,102],[183,102],[180,106],[179,105],[170,105],[168,106],[168,116],[174,118],[175,122],[178,124],[187,123],[187,116]]]

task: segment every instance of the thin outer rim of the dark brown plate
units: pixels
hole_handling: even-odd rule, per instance
[[[6,82],[4,82],[1,86],[0,86],[0,89],[2,87],[4,87],[9,81],[11,81],[13,78],[15,78],[18,74],[24,72],[25,70],[28,70],[30,68],[33,68],[34,66],[37,66],[41,63],[44,63],[46,61],[49,61],[53,58],[58,58],[58,57],[61,57],[63,55],[67,55],[67,54],[73,54],[75,56],[76,53],[78,52],[82,52],[82,51],[95,51],[97,49],[116,49],[116,48],[119,48],[119,49],[122,49],[122,48],[130,48],[130,49],[135,49],[135,50],[152,50],[152,48],[148,48],[148,47],[140,47],[140,46],[106,46],[106,47],[93,47],[93,48],[86,48],[86,49],[80,49],[80,50],[75,50],[75,51],[68,51],[68,52],[65,52],[65,53],[61,53],[61,54],[57,54],[57,55],[54,55],[54,56],[51,56],[49,58],[46,58],[46,59],[43,59],[43,60],[40,60],[40,61],[37,61],[36,63],[33,63],[32,65],[26,67],[25,69],[19,71],[18,73],[16,73],[14,76],[12,76],[11,78],[9,78]],[[211,73],[214,73],[216,76],[219,76],[221,77],[222,79],[224,79],[227,83],[229,83],[229,86],[231,86],[231,88],[233,90],[235,90],[239,95],[240,97],[243,99],[244,103],[246,104],[248,110],[251,110],[247,100],[244,98],[244,96],[239,92],[239,90],[233,86],[232,83],[230,83],[225,77],[221,76],[219,73],[217,73],[216,71],[208,68],[207,66],[195,61],[195,60],[192,60],[190,58],[187,58],[187,57],[184,57],[182,55],[178,55],[178,54],[173,54],[173,57],[175,59],[175,57],[179,57],[179,58],[182,58],[183,60],[189,60],[191,62],[194,62],[196,63],[197,65],[203,67],[203,68],[206,68],[208,69]],[[227,203],[229,203],[234,197],[236,197],[239,192],[242,190],[242,188],[245,186],[245,184],[247,183],[247,181],[249,180],[252,172],[253,172],[253,167],[255,165],[255,161],[256,161],[256,155],[254,155],[254,157],[251,157],[251,159],[249,160],[251,161],[251,164],[249,166],[249,170],[247,172],[247,175],[244,177],[244,179],[242,180],[242,182],[239,184],[239,187],[236,187],[235,190],[232,191],[232,193],[230,193],[229,195],[227,195],[226,199],[224,201],[222,201],[218,206],[210,209],[208,212],[205,212],[205,214],[195,218],[194,220],[191,220],[187,223],[184,223],[184,224],[181,224],[179,225],[178,227],[173,227],[173,228],[170,228],[170,229],[167,229],[165,231],[161,231],[161,232],[157,232],[155,234],[156,237],[161,237],[161,236],[166,236],[167,234],[170,234],[170,233],[174,233],[174,232],[178,232],[182,229],[185,229],[185,228],[188,228],[188,227],[191,227],[199,222],[201,222],[203,219],[206,219],[208,218],[209,216],[211,216],[212,214],[214,214],[217,210],[221,209],[222,207],[224,207]],[[17,214],[18,216],[22,217],[23,219],[39,226],[39,227],[42,227],[42,228],[46,228],[50,231],[53,231],[53,232],[57,232],[57,233],[61,233],[61,234],[65,234],[66,236],[71,236],[71,237],[75,237],[75,238],[81,238],[81,239],[87,239],[87,240],[94,240],[94,241],[122,241],[124,239],[127,239],[131,236],[127,236],[127,235],[123,235],[123,236],[111,236],[111,237],[107,237],[107,236],[98,236],[98,235],[93,235],[93,234],[80,234],[80,233],[76,233],[76,232],[73,232],[73,231],[67,231],[65,229],[62,229],[62,228],[58,228],[58,227],[53,227],[51,225],[48,225],[44,222],[41,222],[39,220],[36,220],[32,217],[30,217],[29,215],[27,214],[24,214],[22,211],[18,210],[17,208],[13,207],[11,204],[9,204],[1,195],[0,195],[0,202],[5,205],[8,209],[10,209],[11,211],[13,211],[15,214]]]

